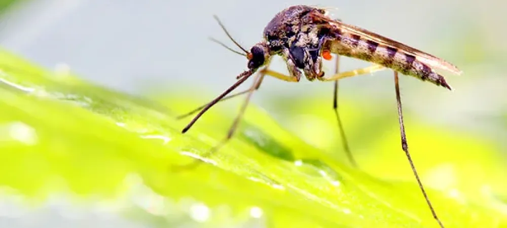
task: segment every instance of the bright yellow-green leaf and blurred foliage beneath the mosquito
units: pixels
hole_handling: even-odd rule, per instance
[[[236,137],[205,158],[234,113],[219,105],[185,135],[180,130],[187,120],[174,118],[205,96],[159,94],[152,102],[49,72],[6,51],[0,68],[0,185],[29,203],[60,193],[86,204],[137,189],[148,206],[127,204],[125,216],[160,227],[252,221],[438,227],[400,148],[392,104],[340,104],[361,170],[346,165],[329,104],[312,97],[273,101],[287,129],[250,106]],[[413,159],[446,227],[507,227],[507,205],[499,197],[507,189],[505,159],[495,143],[406,116]],[[192,157],[207,162],[174,169]]]

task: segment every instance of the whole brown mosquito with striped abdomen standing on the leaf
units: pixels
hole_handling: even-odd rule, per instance
[[[324,8],[304,5],[288,7],[274,16],[264,29],[263,40],[253,45],[249,51],[238,44],[229,34],[218,17],[214,16],[229,39],[238,48],[240,48],[242,52],[233,50],[217,40],[212,39],[212,41],[237,54],[245,56],[248,60],[248,69],[240,73],[236,77],[237,82],[218,97],[185,115],[179,116],[178,118],[185,118],[199,111],[194,119],[183,129],[182,133],[187,132],[214,104],[219,101],[246,94],[246,98],[231,128],[229,129],[227,136],[209,151],[207,156],[210,156],[218,151],[220,147],[233,137],[253,92],[259,89],[266,75],[286,82],[299,82],[302,74],[304,73],[305,78],[308,81],[314,81],[316,79],[323,82],[334,82],[333,109],[338,122],[343,148],[350,163],[353,166],[357,166],[352,154],[350,153],[350,148],[347,144],[343,125],[338,112],[338,81],[344,78],[354,77],[356,75],[364,75],[384,69],[392,69],[394,72],[394,90],[396,94],[402,149],[405,151],[410,167],[412,168],[413,174],[433,218],[438,222],[440,227],[443,228],[444,225],[431,205],[429,197],[426,194],[409,153],[407,136],[405,134],[405,125],[403,123],[398,73],[400,72],[405,75],[410,75],[422,81],[427,81],[448,90],[452,90],[451,86],[446,82],[444,77],[437,73],[435,69],[446,70],[454,74],[461,74],[461,71],[456,66],[441,58],[393,41],[366,29],[345,24],[340,20],[332,19],[328,16],[328,14],[329,12]],[[333,57],[332,54],[336,55],[335,74],[330,77],[324,77],[324,72],[322,71],[322,59],[331,60]],[[286,62],[288,75],[269,69],[270,61],[275,55],[281,56]],[[373,65],[365,68],[339,72],[340,56],[368,61],[373,63]],[[254,75],[253,83],[249,89],[229,95],[239,85],[252,77],[252,75]],[[196,162],[199,161],[196,160]]]

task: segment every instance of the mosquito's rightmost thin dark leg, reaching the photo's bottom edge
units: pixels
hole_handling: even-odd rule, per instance
[[[426,203],[428,204],[429,210],[431,210],[431,214],[433,215],[433,218],[437,220],[440,227],[444,228],[444,224],[442,224],[442,222],[440,221],[439,217],[437,216],[437,213],[435,212],[433,206],[431,205],[431,202],[429,201],[428,195],[426,194],[426,191],[424,190],[422,182],[419,178],[419,174],[417,173],[417,170],[415,169],[414,162],[412,162],[412,157],[410,156],[410,153],[409,153],[407,136],[405,134],[405,125],[403,124],[402,99],[400,97],[400,84],[398,82],[398,72],[397,71],[394,71],[394,89],[396,90],[396,104],[398,107],[398,122],[400,123],[400,134],[402,137],[403,151],[405,151],[405,155],[407,156],[407,159],[409,160],[410,167],[412,168],[412,172],[414,173],[417,183],[419,184],[419,188],[421,189],[422,195],[424,196],[424,199],[426,200]]]

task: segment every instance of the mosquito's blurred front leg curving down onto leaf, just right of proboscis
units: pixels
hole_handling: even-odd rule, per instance
[[[259,81],[261,80],[261,78],[263,76],[264,76],[263,73],[260,73],[260,74],[257,74],[256,77],[254,78],[254,80],[253,80],[254,82],[253,82],[252,86],[248,89],[248,93],[246,95],[245,101],[243,102],[243,105],[241,106],[241,109],[239,110],[238,116],[236,116],[236,119],[234,119],[234,122],[232,123],[227,136],[221,142],[219,142],[219,144],[217,144],[216,146],[211,148],[211,150],[208,151],[208,153],[206,155],[203,155],[203,157],[209,157],[209,156],[213,155],[214,153],[216,153],[216,151],[218,151],[225,143],[227,143],[232,138],[232,136],[236,132],[236,129],[238,128],[239,121],[242,119],[243,114],[246,110],[246,107],[248,106],[248,103],[250,102],[250,98],[253,94],[253,91],[256,90],[256,87],[259,85]],[[195,160],[193,163],[190,163],[190,164],[184,165],[184,166],[177,166],[177,168],[179,168],[179,170],[190,169],[190,168],[195,167],[196,165],[199,165],[201,162],[202,162],[201,160]],[[174,169],[173,171],[177,171],[177,170]]]

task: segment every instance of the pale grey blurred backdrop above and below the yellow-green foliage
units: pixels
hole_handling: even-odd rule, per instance
[[[405,108],[419,112],[420,118],[489,131],[491,128],[484,127],[481,118],[507,104],[504,12],[507,2],[499,0],[21,1],[3,14],[0,42],[10,51],[43,66],[67,64],[80,77],[129,93],[177,88],[185,96],[183,88],[189,91],[205,88],[210,94],[218,94],[235,82],[236,74],[245,69],[246,60],[207,40],[213,36],[232,45],[212,15],[218,15],[235,39],[249,48],[260,41],[264,26],[275,13],[296,4],[336,7],[338,10],[333,13],[346,23],[458,65],[464,71],[462,75],[444,74],[456,89],[453,93],[402,78]],[[366,65],[346,59],[342,70]],[[333,69],[329,63],[326,67]],[[273,68],[285,70],[279,58]],[[371,94],[360,99],[394,99],[392,75],[388,71],[351,78],[341,85],[344,97]],[[261,92],[256,93],[255,102],[262,106],[263,100],[273,96],[326,90],[329,97],[322,99],[329,99],[331,105],[331,84],[305,80],[288,84],[269,79]],[[17,210],[16,204],[1,204],[4,211]],[[114,215],[98,219],[88,212],[79,212],[83,218],[76,220],[62,216],[54,206],[41,209],[37,215],[13,217],[6,213],[0,214],[0,227],[146,225]]]

